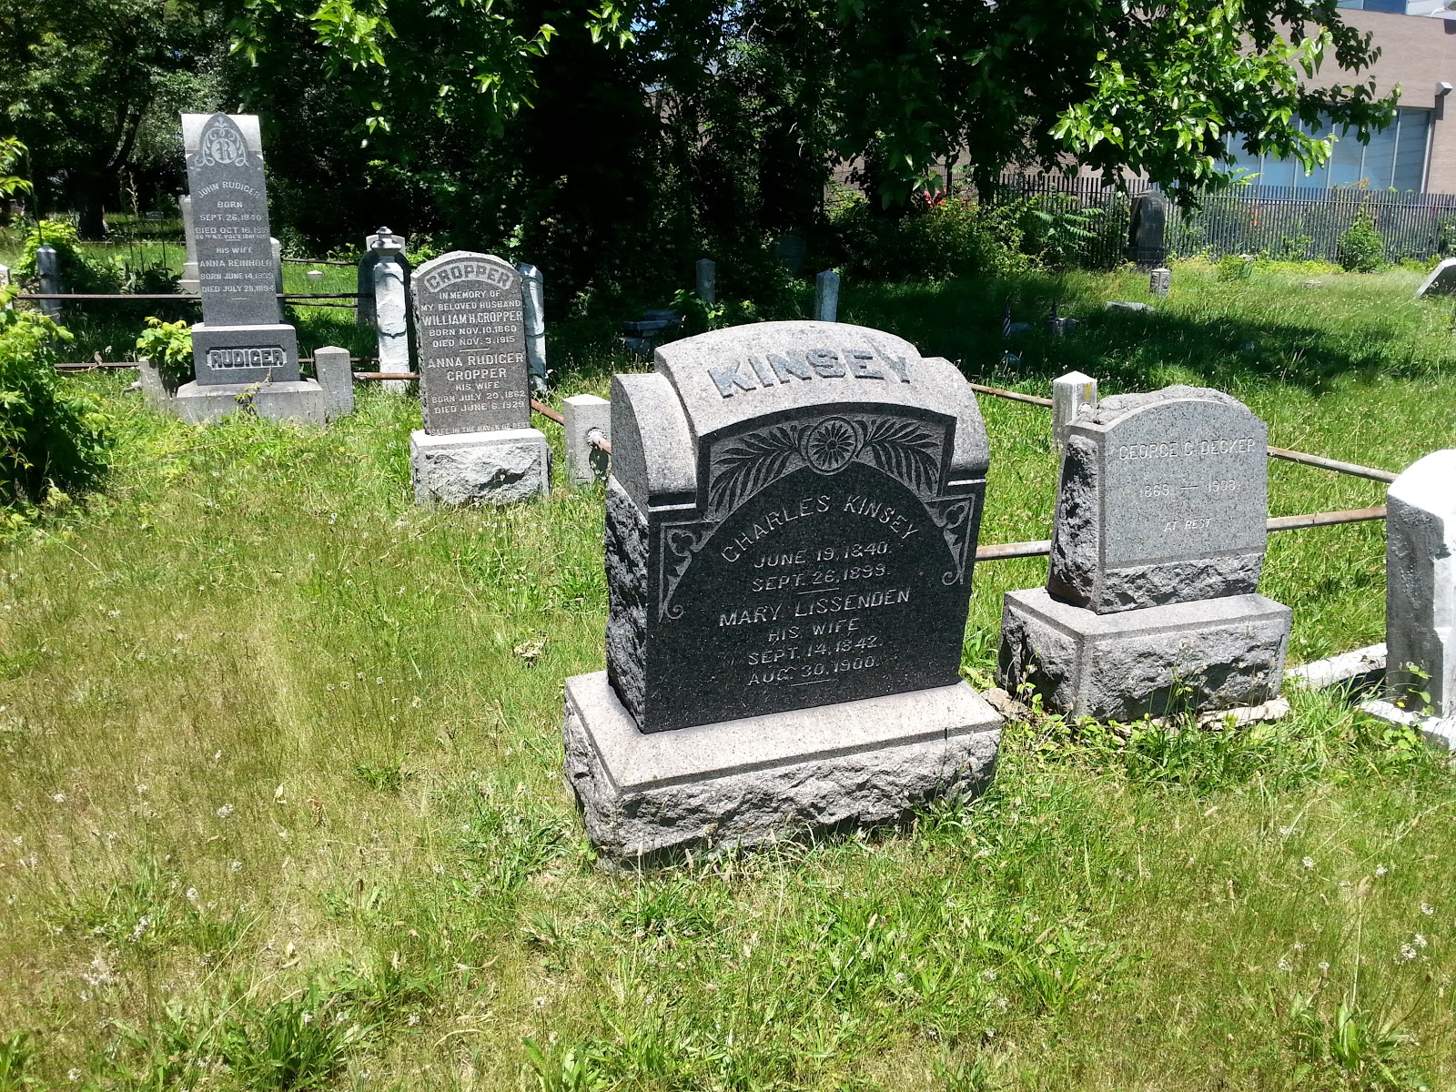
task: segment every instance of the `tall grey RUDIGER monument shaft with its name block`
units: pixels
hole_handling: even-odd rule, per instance
[[[202,296],[197,381],[297,380],[297,335],[278,313],[258,118],[183,114],[182,143]]]

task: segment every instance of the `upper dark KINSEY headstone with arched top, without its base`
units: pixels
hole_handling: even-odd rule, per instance
[[[957,683],[976,397],[879,331],[779,322],[616,376],[607,673],[644,732]]]

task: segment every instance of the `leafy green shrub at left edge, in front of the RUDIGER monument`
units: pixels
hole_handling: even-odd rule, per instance
[[[71,335],[38,312],[3,310],[0,288],[0,504],[36,504],[51,489],[86,489],[106,469],[111,419],[55,374],[55,342]]]

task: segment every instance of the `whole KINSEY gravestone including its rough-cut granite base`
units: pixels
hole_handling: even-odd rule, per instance
[[[613,377],[607,670],[566,779],[619,863],[894,820],[971,792],[960,680],[986,491],[970,384],[881,331],[772,322]]]

